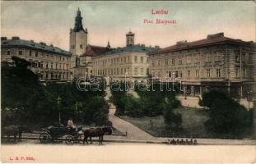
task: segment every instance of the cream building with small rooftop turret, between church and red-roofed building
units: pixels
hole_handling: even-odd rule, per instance
[[[112,80],[144,80],[148,75],[147,52],[156,51],[157,48],[145,45],[134,45],[134,34],[126,34],[126,47],[114,48],[92,59],[92,74],[106,76]]]

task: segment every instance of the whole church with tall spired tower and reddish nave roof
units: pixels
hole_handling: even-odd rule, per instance
[[[71,71],[72,79],[91,78],[92,58],[100,53],[108,52],[110,45],[106,47],[90,45],[87,41],[88,31],[82,26],[81,11],[78,8],[75,26],[69,34],[69,50],[72,53]]]

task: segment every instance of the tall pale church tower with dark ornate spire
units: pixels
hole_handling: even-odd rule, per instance
[[[75,27],[69,33],[69,51],[72,53],[71,67],[77,66],[77,58],[86,52],[88,32],[87,29],[83,29],[81,20],[81,11],[78,8]]]

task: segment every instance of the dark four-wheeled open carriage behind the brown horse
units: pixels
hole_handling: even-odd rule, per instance
[[[81,126],[77,127],[77,130],[72,130],[62,125],[42,128],[43,132],[40,134],[40,143],[45,144],[64,137],[66,144],[74,144],[81,139],[81,133],[79,133],[81,129]]]

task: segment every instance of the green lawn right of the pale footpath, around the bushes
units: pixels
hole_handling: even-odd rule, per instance
[[[211,134],[207,132],[204,122],[208,119],[208,111],[191,107],[182,107],[175,109],[175,112],[182,114],[182,125],[179,130],[171,131],[165,129],[165,120],[163,116],[134,118],[130,116],[119,116],[125,121],[136,125],[138,128],[147,131],[147,133],[156,137],[193,137],[193,138],[236,138],[236,136],[227,136],[226,134]],[[249,137],[249,132],[244,131],[244,137]]]

